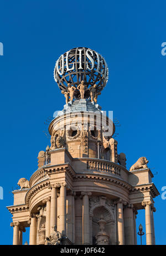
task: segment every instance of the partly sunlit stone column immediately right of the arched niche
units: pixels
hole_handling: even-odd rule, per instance
[[[118,245],[125,244],[125,232],[124,232],[124,221],[123,221],[123,202],[122,199],[116,202],[117,203],[117,230],[118,230]]]

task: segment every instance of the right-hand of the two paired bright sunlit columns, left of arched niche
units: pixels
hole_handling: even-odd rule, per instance
[[[60,187],[60,227],[59,232],[66,235],[66,182],[61,183]]]

